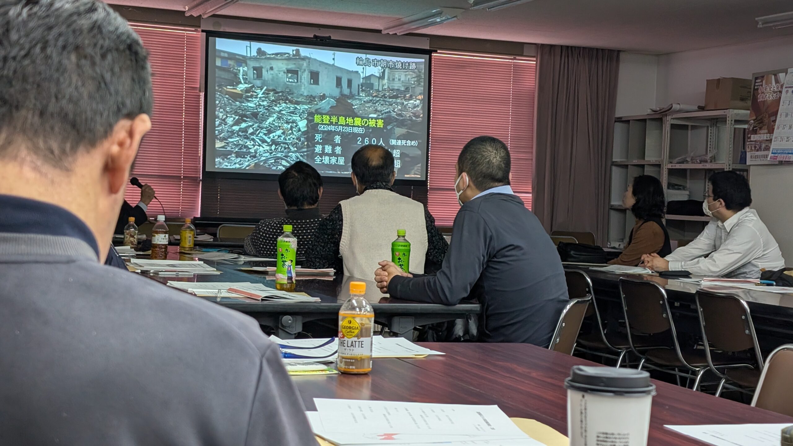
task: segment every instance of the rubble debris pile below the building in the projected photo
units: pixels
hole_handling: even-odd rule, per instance
[[[240,83],[217,87],[215,100],[215,165],[224,169],[279,172],[309,162],[315,113],[377,117],[388,123],[390,137],[423,128],[423,98],[401,90],[364,89],[358,96],[327,98]]]

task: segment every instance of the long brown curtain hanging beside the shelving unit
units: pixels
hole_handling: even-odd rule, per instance
[[[619,52],[540,45],[533,210],[549,233],[607,240]]]

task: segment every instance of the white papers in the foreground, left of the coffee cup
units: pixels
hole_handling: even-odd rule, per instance
[[[498,406],[314,398],[308,421],[337,446],[544,446]]]

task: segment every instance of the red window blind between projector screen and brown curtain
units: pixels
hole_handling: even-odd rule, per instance
[[[495,136],[507,144],[512,190],[531,209],[535,77],[533,58],[432,55],[428,207],[437,225],[451,226],[460,209],[454,164],[475,136]]]

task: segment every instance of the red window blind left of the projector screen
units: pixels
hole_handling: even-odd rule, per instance
[[[154,187],[167,217],[198,215],[201,196],[202,96],[201,31],[130,23],[149,52],[154,113],[132,176]],[[140,189],[127,186],[125,198],[135,206]],[[162,213],[159,203],[150,216]]]

